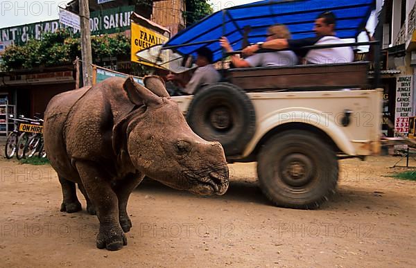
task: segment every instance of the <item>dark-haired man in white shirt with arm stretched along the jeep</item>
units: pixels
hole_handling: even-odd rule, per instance
[[[339,48],[323,49],[302,49],[303,46],[313,46],[315,44],[343,44],[343,40],[336,37],[335,33],[336,17],[333,12],[323,12],[315,19],[316,37],[304,39],[273,39],[263,44],[254,44],[243,50],[243,53],[251,55],[261,48],[285,49],[289,48],[304,57],[309,64],[331,64],[345,63],[354,60],[354,51],[349,46]]]

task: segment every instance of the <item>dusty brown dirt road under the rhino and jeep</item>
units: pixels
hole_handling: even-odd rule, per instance
[[[397,160],[341,161],[338,194],[315,211],[271,206],[254,163],[230,165],[223,197],[145,181],[128,246],[110,252],[95,247],[95,216],[59,212],[50,166],[2,159],[0,266],[416,267],[416,182],[383,177]]]

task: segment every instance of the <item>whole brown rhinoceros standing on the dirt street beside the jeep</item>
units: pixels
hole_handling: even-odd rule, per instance
[[[60,93],[44,116],[44,144],[62,186],[61,211],[98,216],[99,249],[127,244],[128,197],[144,176],[198,195],[223,195],[228,168],[220,143],[192,132],[162,80],[109,78]]]

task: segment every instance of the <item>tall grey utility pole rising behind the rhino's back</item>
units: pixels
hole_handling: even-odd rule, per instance
[[[83,56],[83,84],[92,85],[91,31],[89,30],[88,0],[79,0],[81,22],[81,55]]]

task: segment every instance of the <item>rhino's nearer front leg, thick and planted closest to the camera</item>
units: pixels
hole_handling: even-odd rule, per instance
[[[127,239],[119,223],[119,202],[105,169],[86,161],[76,161],[76,169],[100,221],[96,239],[98,249],[115,251],[123,248]]]

